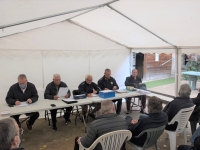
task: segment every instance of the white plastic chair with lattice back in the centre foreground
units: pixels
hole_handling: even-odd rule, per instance
[[[89,148],[83,147],[83,145],[80,143],[79,150],[93,150],[98,143],[101,144],[102,150],[120,150],[122,144],[127,140],[130,140],[131,136],[132,133],[129,130],[117,130],[109,132],[97,138]]]

